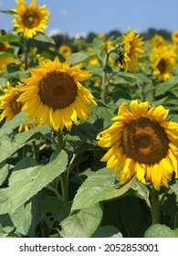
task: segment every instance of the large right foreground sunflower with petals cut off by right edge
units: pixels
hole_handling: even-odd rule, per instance
[[[107,130],[98,134],[99,145],[110,147],[101,158],[107,168],[115,167],[120,184],[136,175],[143,184],[152,182],[156,190],[169,186],[178,177],[178,123],[167,121],[169,110],[150,106],[148,101],[122,102],[118,116]]]

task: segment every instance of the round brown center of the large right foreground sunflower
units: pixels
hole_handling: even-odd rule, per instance
[[[155,164],[167,155],[169,139],[160,123],[140,117],[125,123],[120,146],[131,159],[143,164]]]

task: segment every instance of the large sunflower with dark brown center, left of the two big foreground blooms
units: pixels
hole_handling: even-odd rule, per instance
[[[60,63],[39,59],[39,69],[30,69],[31,77],[23,80],[26,84],[24,93],[18,101],[26,101],[22,111],[27,118],[37,119],[37,123],[48,125],[58,131],[66,126],[71,129],[73,122],[79,119],[88,121],[89,104],[97,105],[93,95],[84,88],[80,81],[90,78],[81,64],[69,67],[68,60]]]

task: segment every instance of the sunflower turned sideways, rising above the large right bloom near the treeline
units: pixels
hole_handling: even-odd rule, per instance
[[[135,34],[134,30],[129,30],[122,36],[124,45],[125,71],[133,72],[135,67],[141,66],[138,58],[144,53],[143,41],[140,34]]]

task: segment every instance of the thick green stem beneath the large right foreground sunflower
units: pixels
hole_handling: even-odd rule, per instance
[[[154,187],[151,190],[152,197],[152,225],[160,223],[160,202],[159,202],[159,191]]]

